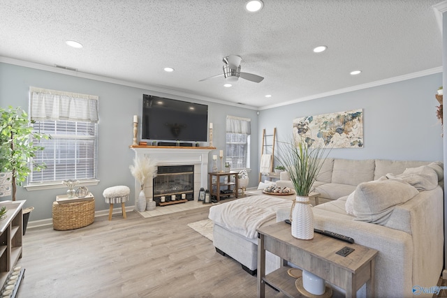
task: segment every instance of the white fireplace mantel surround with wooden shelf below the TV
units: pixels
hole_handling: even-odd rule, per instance
[[[131,146],[135,156],[148,156],[160,165],[194,165],[194,200],[198,200],[200,187],[208,185],[208,154],[214,147],[167,147],[167,146]],[[145,183],[146,198],[152,198],[152,179]],[[135,179],[135,206],[140,193],[140,183]]]

